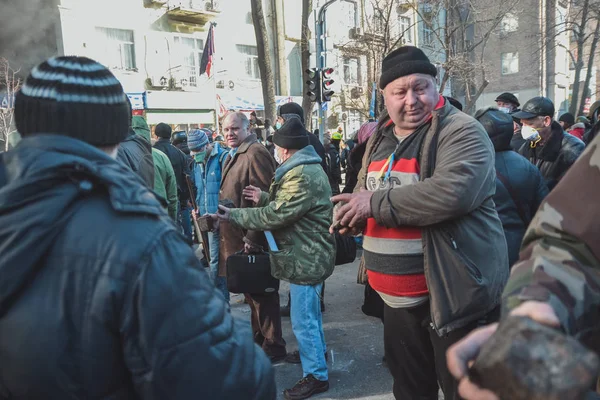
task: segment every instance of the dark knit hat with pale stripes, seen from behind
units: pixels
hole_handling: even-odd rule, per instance
[[[127,137],[130,116],[117,78],[85,57],[44,61],[15,96],[15,123],[23,136],[54,133],[111,146]]]

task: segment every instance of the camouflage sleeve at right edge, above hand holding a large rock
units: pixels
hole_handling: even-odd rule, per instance
[[[600,326],[600,207],[595,205],[599,193],[600,138],[548,195],[531,222],[521,258],[504,290],[504,315],[521,302],[537,300],[552,305],[570,335]]]

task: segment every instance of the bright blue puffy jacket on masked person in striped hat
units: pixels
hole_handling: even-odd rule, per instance
[[[200,215],[214,214],[219,206],[221,173],[228,151],[219,143],[213,144],[213,150],[206,163],[194,162],[194,183],[196,185],[196,203]]]

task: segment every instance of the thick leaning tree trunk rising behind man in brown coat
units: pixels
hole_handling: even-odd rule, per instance
[[[275,120],[275,76],[271,64],[271,52],[269,47],[269,37],[267,36],[267,27],[262,10],[262,0],[250,0],[252,7],[252,20],[254,21],[254,34],[256,35],[256,49],[258,51],[258,63],[260,71],[260,80],[263,91],[263,101],[265,105],[265,118],[271,121]]]

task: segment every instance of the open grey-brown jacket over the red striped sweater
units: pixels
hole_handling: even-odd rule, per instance
[[[384,113],[367,142],[355,192],[367,187],[367,167],[389,121]],[[492,201],[494,148],[479,122],[446,103],[432,112],[419,166],[419,182],[375,191],[371,211],[380,226],[421,228],[431,326],[442,336],[494,310],[508,279]]]

